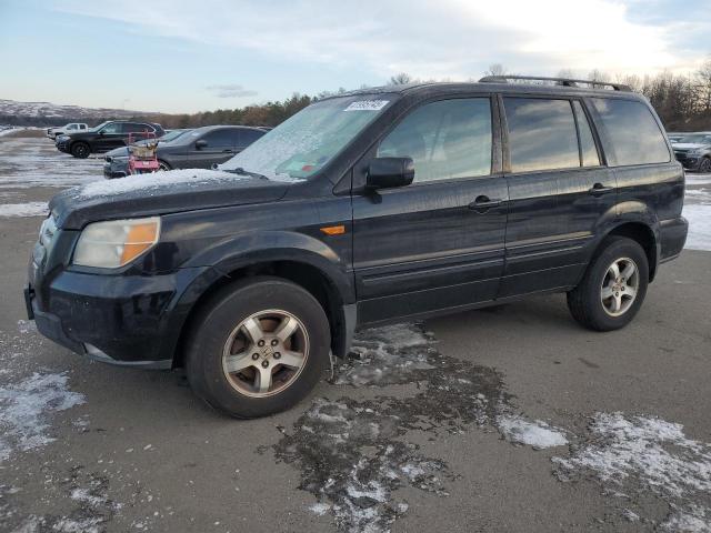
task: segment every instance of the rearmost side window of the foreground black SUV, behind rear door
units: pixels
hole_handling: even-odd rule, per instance
[[[593,98],[592,102],[612,142],[618,165],[670,160],[664,135],[647,105],[607,98]]]

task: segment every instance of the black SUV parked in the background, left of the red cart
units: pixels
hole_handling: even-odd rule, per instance
[[[141,133],[154,133],[160,138],[164,131],[160,124],[156,123],[111,120],[83,132],[59,137],[57,149],[60,152],[71,153],[74,158],[84,159],[92,153],[103,153],[124,147],[129,134],[136,138]]]

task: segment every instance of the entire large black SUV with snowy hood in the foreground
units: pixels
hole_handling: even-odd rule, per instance
[[[64,191],[30,318],[96,360],[186,366],[239,418],[293,405],[364,325],[567,292],[622,328],[683,248],[683,170],[643,97],[552,83],[348,93],[219,171]]]

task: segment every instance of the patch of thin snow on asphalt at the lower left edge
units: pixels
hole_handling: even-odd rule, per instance
[[[36,372],[17,383],[0,386],[0,462],[14,451],[43,446],[50,436],[53,413],[84,403],[84,396],[67,386],[66,372]]]

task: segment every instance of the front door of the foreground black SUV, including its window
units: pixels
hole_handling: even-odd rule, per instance
[[[489,97],[422,104],[367,155],[412,158],[414,181],[353,195],[359,322],[495,296],[508,194],[491,109]]]

